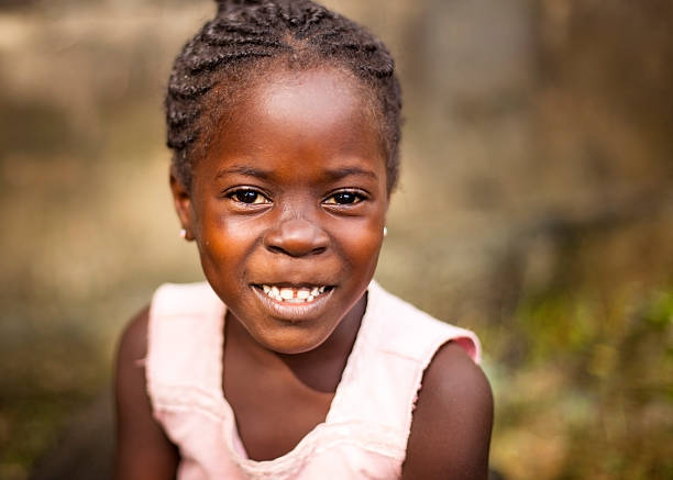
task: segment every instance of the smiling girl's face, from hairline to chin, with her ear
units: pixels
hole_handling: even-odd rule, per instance
[[[318,347],[371,281],[388,206],[377,124],[339,70],[278,71],[172,181],[213,290],[262,346]]]

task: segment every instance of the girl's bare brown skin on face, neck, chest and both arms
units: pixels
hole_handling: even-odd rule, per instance
[[[324,422],[366,306],[389,196],[356,81],[329,67],[272,72],[196,165],[192,188],[172,176],[180,222],[229,306],[222,386],[255,460]],[[262,284],[328,289],[298,306],[268,300]],[[175,478],[179,462],[152,417],[137,362],[146,337],[144,310],[118,356],[118,479]],[[482,370],[446,344],[422,386],[402,479],[486,479],[493,399]]]

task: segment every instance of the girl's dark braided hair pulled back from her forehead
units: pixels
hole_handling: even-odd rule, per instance
[[[192,163],[224,109],[262,63],[345,68],[374,93],[388,192],[399,175],[401,92],[385,45],[363,26],[310,0],[217,0],[218,13],[184,46],[166,94],[167,145],[177,179],[191,185]],[[269,64],[271,65],[271,64]],[[252,68],[255,68],[253,71]]]

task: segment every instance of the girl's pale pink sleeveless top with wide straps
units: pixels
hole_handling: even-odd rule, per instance
[[[398,479],[423,370],[437,349],[453,341],[479,361],[472,332],[432,319],[373,281],[327,418],[288,454],[255,461],[222,393],[224,313],[208,283],[164,284],[152,300],[147,392],[179,448],[179,480]]]

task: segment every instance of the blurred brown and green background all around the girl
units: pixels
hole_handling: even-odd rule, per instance
[[[673,478],[673,3],[329,0],[398,60],[377,271],[475,330],[511,480]],[[0,0],[0,478],[108,477],[126,320],[201,279],[163,89],[209,0]]]

